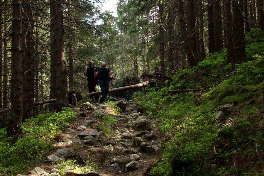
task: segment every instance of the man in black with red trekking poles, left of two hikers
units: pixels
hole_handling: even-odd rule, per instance
[[[88,83],[87,83],[88,92],[89,93],[96,92],[96,90],[95,90],[95,84],[97,84],[97,81],[96,81],[96,79],[94,79],[94,69],[96,67],[94,67],[92,65],[92,61],[88,61],[87,64],[88,64],[87,71],[86,72],[84,71],[83,74],[87,76],[87,80],[88,80]],[[92,99],[93,98],[95,99],[95,101],[97,101],[98,100],[98,95],[95,95],[94,97],[92,97]]]

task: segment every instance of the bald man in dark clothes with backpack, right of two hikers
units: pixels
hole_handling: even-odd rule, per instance
[[[106,67],[106,63],[102,62],[101,67],[99,69],[94,69],[94,77],[99,75],[99,85],[102,91],[102,98],[100,99],[100,103],[103,101],[107,101],[107,94],[109,90],[109,81],[111,79],[116,79],[110,73],[109,68]]]

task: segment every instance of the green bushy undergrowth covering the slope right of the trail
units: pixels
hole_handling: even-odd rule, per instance
[[[258,37],[263,32],[248,35],[263,42]],[[165,135],[163,154],[149,175],[264,174],[264,53],[263,45],[257,48],[233,72],[222,50],[194,68],[177,70],[165,86],[134,94]],[[178,89],[197,91],[168,93]],[[215,118],[226,104],[233,104],[233,110]]]

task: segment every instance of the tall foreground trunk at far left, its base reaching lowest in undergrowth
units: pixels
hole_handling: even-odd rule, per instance
[[[22,115],[23,115],[23,78],[22,78],[22,20],[21,20],[21,0],[13,0],[12,19],[12,78],[11,78],[11,112],[9,113],[9,125],[7,136],[14,137],[15,142],[22,136]]]

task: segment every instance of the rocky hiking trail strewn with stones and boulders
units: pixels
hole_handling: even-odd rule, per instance
[[[59,175],[54,163],[75,159],[77,165],[85,167],[87,158],[98,166],[95,172],[69,172],[67,175],[145,175],[160,155],[163,136],[153,120],[138,112],[135,102],[122,99],[116,103],[120,102],[123,109],[121,115],[114,115],[111,107],[98,103],[87,103],[88,106],[81,107],[82,113],[75,109],[82,116],[78,116],[76,123],[55,137],[54,150],[26,175]],[[110,134],[101,131],[101,117],[96,114],[110,115],[117,120]]]

